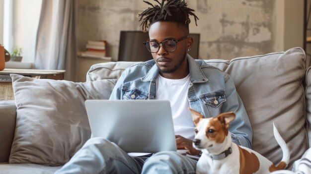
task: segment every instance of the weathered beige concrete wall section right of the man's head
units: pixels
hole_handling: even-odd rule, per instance
[[[197,0],[200,58],[231,59],[273,51],[274,0]]]

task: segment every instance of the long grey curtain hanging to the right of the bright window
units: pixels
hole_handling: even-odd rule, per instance
[[[64,69],[76,81],[76,1],[42,0],[37,31],[36,69]]]

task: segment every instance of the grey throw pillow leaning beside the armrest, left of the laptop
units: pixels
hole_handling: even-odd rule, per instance
[[[112,90],[109,80],[11,78],[17,116],[9,163],[65,164],[90,138],[84,101],[108,99]]]

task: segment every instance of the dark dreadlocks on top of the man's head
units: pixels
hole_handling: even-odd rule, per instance
[[[198,26],[197,20],[199,18],[193,13],[194,9],[187,7],[185,0],[162,0],[161,3],[155,0],[159,5],[143,1],[152,6],[139,14],[141,17],[139,21],[142,21],[141,26],[144,32],[147,32],[147,28],[157,21],[172,21],[184,24],[188,28],[191,22],[189,14],[194,17],[195,24]],[[165,1],[167,2],[164,4]]]

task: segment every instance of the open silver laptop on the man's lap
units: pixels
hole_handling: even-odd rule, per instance
[[[169,101],[86,100],[93,137],[103,137],[124,151],[176,151]]]

